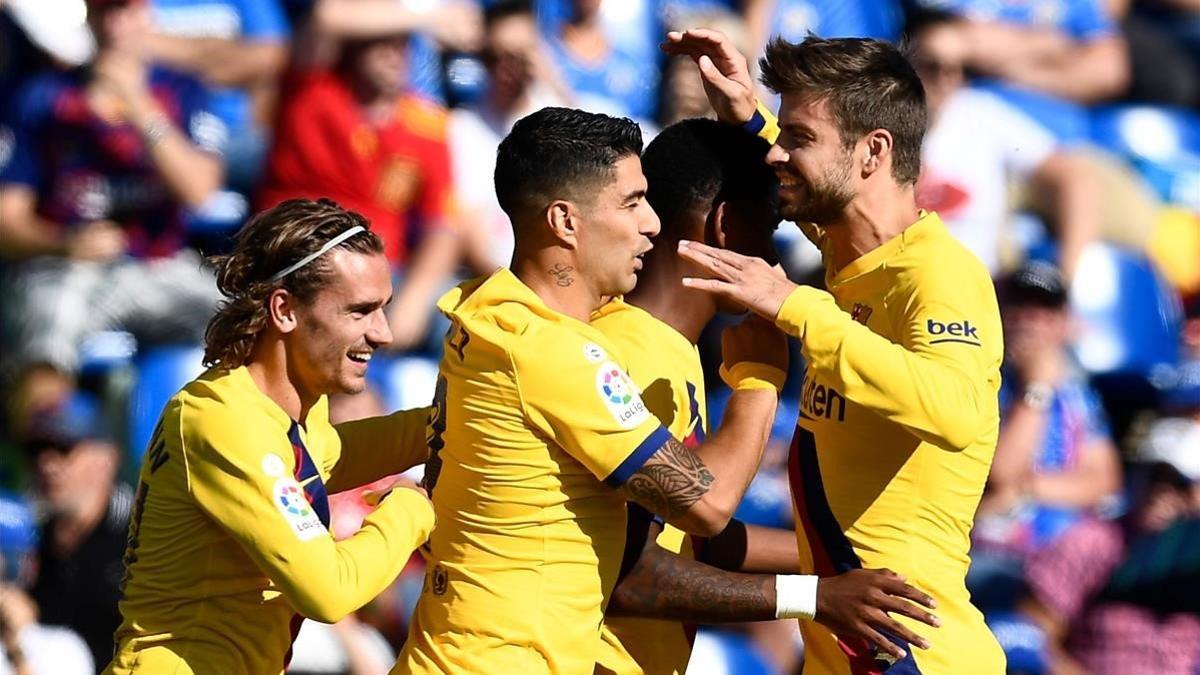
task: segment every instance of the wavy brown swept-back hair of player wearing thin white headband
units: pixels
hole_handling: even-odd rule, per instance
[[[271,293],[286,288],[310,300],[329,283],[332,267],[326,253],[283,279],[274,277],[355,226],[364,231],[334,250],[383,253],[383,240],[371,232],[371,223],[331,199],[288,199],[242,226],[233,252],[210,258],[224,300],[204,330],[204,365],[224,370],[244,365],[270,319]]]

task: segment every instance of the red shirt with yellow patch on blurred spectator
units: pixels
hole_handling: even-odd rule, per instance
[[[349,86],[328,71],[294,73],[287,85],[259,202],[329,197],[371,221],[388,259],[455,214],[445,109],[415,95],[371,124]]]

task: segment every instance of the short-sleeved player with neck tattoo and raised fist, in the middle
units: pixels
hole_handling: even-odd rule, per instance
[[[546,108],[500,143],[496,192],[511,269],[442,298],[431,425],[438,526],[401,673],[590,674],[625,544],[625,503],[712,536],[752,478],[786,371],[767,322],[730,334],[734,393],[684,447],[649,413],[588,321],[634,288],[659,220],[628,119]]]

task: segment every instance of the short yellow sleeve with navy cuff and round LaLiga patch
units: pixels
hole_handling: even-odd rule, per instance
[[[619,488],[671,432],[599,347],[582,339],[558,348],[536,345],[512,354],[526,416],[596,478]]]

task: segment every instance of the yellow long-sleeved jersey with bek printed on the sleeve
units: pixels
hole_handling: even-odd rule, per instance
[[[760,135],[774,142],[773,119]],[[800,229],[829,261],[821,228]],[[890,637],[908,657],[889,674],[1003,673],[965,584],[1000,430],[1003,335],[988,270],[922,213],[882,246],[827,268],[826,286],[797,288],[775,317],[808,363],[788,466],[804,572],[887,567],[937,601],[936,631],[898,617],[932,649]],[[865,641],[814,622],[802,629],[805,673],[888,665]]]

